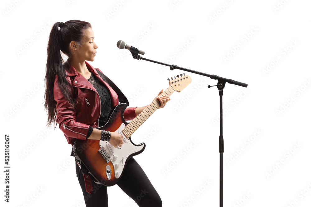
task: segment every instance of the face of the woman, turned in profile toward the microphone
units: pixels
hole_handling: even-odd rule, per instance
[[[72,54],[81,61],[94,61],[96,55],[97,45],[94,42],[94,33],[91,28],[84,30],[84,36],[81,40],[81,45],[75,45],[77,50],[74,50]]]

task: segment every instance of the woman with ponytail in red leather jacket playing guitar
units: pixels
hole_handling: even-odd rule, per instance
[[[101,78],[101,70],[95,70],[86,62],[95,59],[97,45],[94,38],[91,24],[85,21],[70,20],[53,25],[45,76],[47,125],[58,123],[72,145],[76,139],[101,139],[114,147],[122,146],[122,135],[96,129],[107,122],[112,109],[118,104],[118,96]],[[61,51],[69,57],[64,64]],[[170,100],[168,96],[160,97],[162,92],[155,98],[160,101],[160,108]],[[134,119],[145,108],[126,108],[124,119]],[[83,179],[77,162],[76,174],[86,206],[108,206],[107,187],[88,180],[89,176]],[[139,206],[162,206],[160,196],[133,158],[128,160],[117,185]]]

